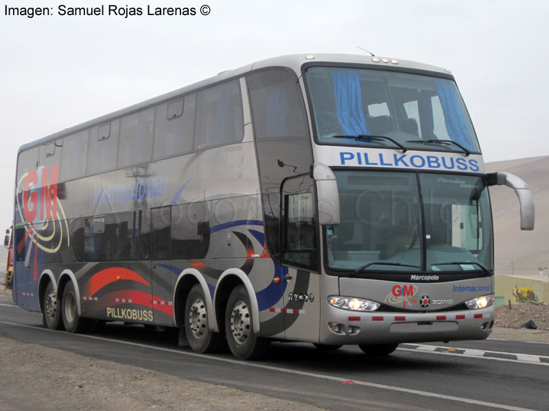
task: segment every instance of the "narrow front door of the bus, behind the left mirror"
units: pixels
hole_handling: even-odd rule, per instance
[[[285,337],[318,342],[320,275],[314,180],[300,175],[282,188]]]

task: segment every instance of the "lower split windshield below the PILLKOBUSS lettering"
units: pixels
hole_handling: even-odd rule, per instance
[[[325,227],[327,266],[369,272],[493,271],[481,177],[336,171],[341,222]]]

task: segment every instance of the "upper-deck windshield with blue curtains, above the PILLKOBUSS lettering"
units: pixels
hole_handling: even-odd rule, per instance
[[[326,66],[305,77],[320,144],[480,153],[451,79]]]

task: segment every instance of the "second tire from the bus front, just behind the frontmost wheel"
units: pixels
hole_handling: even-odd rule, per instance
[[[222,335],[210,331],[208,314],[202,287],[200,284],[195,284],[187,294],[183,326],[191,349],[197,353],[220,351],[224,345]]]

